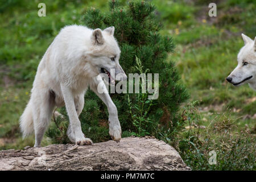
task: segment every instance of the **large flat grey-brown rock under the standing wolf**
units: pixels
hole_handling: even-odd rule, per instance
[[[52,144],[0,151],[0,170],[190,170],[178,152],[155,138],[123,138],[91,146]]]

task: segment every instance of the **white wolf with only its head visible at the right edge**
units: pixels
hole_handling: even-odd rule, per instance
[[[247,83],[256,90],[256,37],[251,40],[242,34],[242,38],[245,46],[238,53],[238,65],[226,80],[235,86]]]

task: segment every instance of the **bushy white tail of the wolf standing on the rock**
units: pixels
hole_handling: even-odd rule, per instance
[[[23,138],[34,132],[31,99],[28,102],[26,109],[24,110],[22,116],[19,119],[19,127],[22,131]]]

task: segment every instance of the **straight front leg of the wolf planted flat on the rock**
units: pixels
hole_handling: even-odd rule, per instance
[[[87,145],[92,144],[92,140],[89,138],[85,138],[84,134],[82,133],[81,129],[81,123],[79,121],[79,118],[77,116],[76,107],[75,107],[75,98],[73,97],[71,89],[69,89],[67,86],[61,84],[61,92],[63,93],[65,106],[67,109],[70,127],[69,133],[72,132],[72,138],[75,139],[76,144],[79,145]]]

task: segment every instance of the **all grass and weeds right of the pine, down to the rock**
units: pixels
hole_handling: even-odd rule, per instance
[[[176,52],[170,56],[189,88],[191,103],[199,104],[192,106],[196,111],[183,110],[191,114],[184,115],[185,130],[175,148],[194,170],[255,170],[255,92],[248,85],[237,88],[225,81],[236,67],[241,33],[255,36],[255,4],[220,2],[217,18],[207,16],[205,2],[159,5],[162,11],[174,12],[176,6],[184,6],[188,16],[168,16],[162,34],[174,36]],[[210,150],[217,152],[216,165],[208,163]]]

